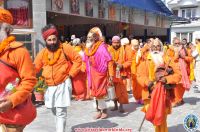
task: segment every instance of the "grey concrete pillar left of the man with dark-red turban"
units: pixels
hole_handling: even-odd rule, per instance
[[[44,47],[44,40],[41,35],[41,28],[46,25],[46,0],[32,0],[33,9],[33,29],[36,32],[34,36],[34,55]]]

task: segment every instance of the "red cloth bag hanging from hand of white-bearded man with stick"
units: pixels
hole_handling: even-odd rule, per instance
[[[150,105],[146,112],[146,120],[156,126],[163,123],[165,119],[166,98],[166,89],[161,82],[158,82],[151,94]]]

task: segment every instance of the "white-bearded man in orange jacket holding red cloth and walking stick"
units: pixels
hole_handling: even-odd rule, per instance
[[[144,102],[142,111],[146,113],[146,119],[154,125],[155,132],[167,132],[167,114],[171,112],[173,90],[172,87],[167,89],[169,87],[166,86],[175,85],[180,81],[178,63],[163,54],[163,45],[158,38],[152,43],[147,60],[139,63],[140,67],[137,68],[136,78],[138,85],[142,86]],[[173,72],[168,73],[166,68]],[[165,91],[167,94],[163,94]]]

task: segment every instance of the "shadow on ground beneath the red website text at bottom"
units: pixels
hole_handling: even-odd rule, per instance
[[[89,122],[84,124],[79,124],[71,127],[71,131],[74,132],[78,128],[113,128],[118,126],[117,123],[111,122],[109,120],[99,120],[96,122]]]

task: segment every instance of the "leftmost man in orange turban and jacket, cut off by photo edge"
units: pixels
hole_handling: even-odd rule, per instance
[[[27,49],[10,35],[12,22],[11,13],[0,9],[0,131],[22,132],[36,117],[30,97],[36,77]]]

